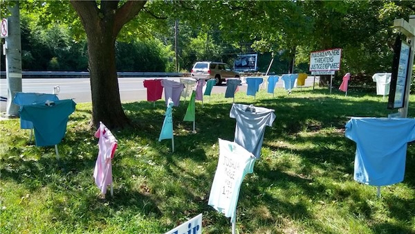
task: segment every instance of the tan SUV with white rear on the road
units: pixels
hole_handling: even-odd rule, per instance
[[[228,78],[241,78],[239,72],[233,71],[223,62],[196,62],[191,73],[194,79],[215,79],[216,85]]]

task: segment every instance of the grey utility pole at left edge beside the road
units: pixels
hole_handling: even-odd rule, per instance
[[[19,106],[13,103],[15,94],[21,92],[21,39],[19,1],[9,6],[8,37],[6,37],[6,79],[7,107],[6,117],[19,116]]]

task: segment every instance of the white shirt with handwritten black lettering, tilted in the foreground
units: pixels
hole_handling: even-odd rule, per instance
[[[219,161],[208,205],[234,222],[239,188],[246,174],[254,171],[255,157],[237,143],[219,138]]]

